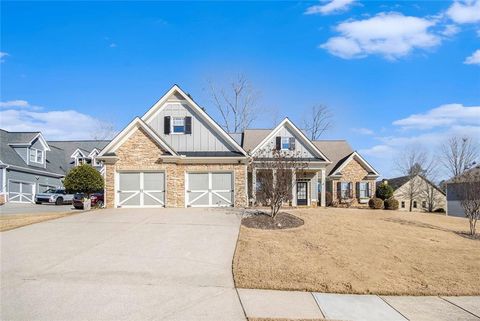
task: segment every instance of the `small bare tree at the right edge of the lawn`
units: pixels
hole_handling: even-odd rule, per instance
[[[473,168],[458,176],[449,184],[460,199],[465,216],[470,225],[470,234],[476,233],[477,221],[480,219],[480,168]],[[449,192],[450,193],[450,192]]]

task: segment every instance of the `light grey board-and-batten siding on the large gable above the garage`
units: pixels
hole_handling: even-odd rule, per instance
[[[164,117],[192,117],[191,134],[164,133]],[[185,103],[167,103],[167,105],[148,121],[153,130],[176,151],[189,152],[227,152],[235,149],[218,135],[203,119]]]

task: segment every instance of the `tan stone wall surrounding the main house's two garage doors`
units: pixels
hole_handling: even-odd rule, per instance
[[[114,207],[115,173],[122,170],[158,170],[166,175],[166,207],[185,207],[185,173],[187,171],[232,171],[234,173],[234,205],[246,207],[246,171],[245,164],[172,164],[164,163],[161,156],[164,150],[142,129],[120,146],[115,164],[106,164],[105,204]]]

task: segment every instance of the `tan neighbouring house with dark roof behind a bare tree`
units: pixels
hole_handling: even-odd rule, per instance
[[[401,176],[383,179],[378,184],[388,184],[393,188],[393,197],[398,200],[398,209],[410,210],[410,198],[412,198],[412,211],[425,212],[446,208],[445,193],[434,183],[421,175],[413,178]],[[413,195],[413,197],[410,197]]]

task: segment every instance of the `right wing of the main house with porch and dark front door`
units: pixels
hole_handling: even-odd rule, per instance
[[[291,151],[307,164],[294,173],[293,206],[325,206],[326,192],[338,202],[366,204],[379,174],[344,140],[309,140],[288,118],[274,129],[247,129],[242,147],[261,160],[272,149]],[[248,174],[249,196],[255,202],[256,170]]]

